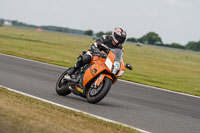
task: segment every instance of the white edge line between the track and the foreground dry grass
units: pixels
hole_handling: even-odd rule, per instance
[[[98,119],[101,119],[101,120],[104,120],[104,121],[107,121],[107,122],[111,122],[111,123],[123,125],[123,126],[125,126],[125,127],[129,127],[129,128],[138,130],[138,131],[140,131],[140,132],[142,132],[142,133],[151,133],[151,132],[148,132],[148,131],[145,131],[145,130],[142,130],[142,129],[139,129],[139,128],[136,128],[136,127],[133,127],[133,126],[129,126],[129,125],[126,125],[126,124],[117,122],[117,121],[113,121],[113,120],[110,120],[110,119],[106,119],[106,118],[104,118],[104,117],[97,116],[97,115],[94,115],[94,114],[90,114],[90,113],[87,113],[87,112],[84,112],[84,111],[81,111],[81,110],[78,110],[78,109],[75,109],[75,108],[71,108],[71,107],[68,107],[68,106],[64,106],[64,105],[61,105],[61,104],[58,104],[58,103],[55,103],[55,102],[52,102],[52,101],[49,101],[49,100],[46,100],[46,99],[43,99],[43,98],[39,98],[39,97],[30,95],[30,94],[27,94],[27,93],[24,93],[24,92],[21,92],[21,91],[17,91],[17,90],[15,90],[15,89],[11,89],[11,88],[8,88],[8,87],[6,87],[6,86],[0,85],[0,87],[7,88],[9,91],[12,91],[12,92],[15,92],[15,93],[24,95],[24,96],[28,96],[28,97],[31,97],[31,98],[34,98],[34,99],[37,99],[37,100],[40,100],[40,101],[43,101],[43,102],[46,102],[46,103],[50,103],[50,104],[53,104],[53,105],[56,105],[56,106],[59,106],[59,107],[65,108],[65,109],[69,109],[69,110],[72,110],[72,111],[80,112],[80,113],[83,113],[83,114],[86,114],[86,115],[89,115],[89,116],[92,116],[92,117],[95,117],[95,118],[98,118]]]

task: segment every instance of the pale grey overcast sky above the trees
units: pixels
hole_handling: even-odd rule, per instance
[[[0,18],[35,25],[158,33],[164,43],[200,40],[200,0],[0,0]]]

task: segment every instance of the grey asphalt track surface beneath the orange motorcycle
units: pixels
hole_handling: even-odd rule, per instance
[[[200,98],[118,81],[100,103],[70,94],[55,83],[65,68],[0,54],[0,85],[155,133],[200,133]]]

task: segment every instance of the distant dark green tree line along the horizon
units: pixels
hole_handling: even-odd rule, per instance
[[[50,31],[57,31],[57,32],[64,32],[64,33],[73,33],[73,34],[87,35],[87,36],[93,36],[93,37],[100,37],[101,35],[111,35],[112,34],[111,31],[107,31],[107,32],[100,31],[100,32],[94,33],[92,30],[84,31],[84,30],[77,30],[77,29],[71,29],[71,28],[59,27],[59,26],[36,26],[36,25],[19,22],[17,20],[4,20],[4,19],[0,19],[0,26],[2,26],[4,21],[10,21],[10,22],[12,22],[12,25],[19,26],[19,27],[40,28],[43,30],[50,30]],[[128,38],[127,41],[134,42],[134,43],[163,46],[163,47],[200,51],[200,40],[199,41],[190,41],[186,45],[181,45],[181,44],[175,43],[175,42],[171,43],[171,44],[165,44],[165,43],[163,43],[161,37],[155,32],[149,32],[140,38],[131,37],[131,38]]]

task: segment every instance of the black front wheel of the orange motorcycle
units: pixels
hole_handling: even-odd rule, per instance
[[[97,94],[95,94],[95,91],[97,91],[96,89],[92,87],[88,89],[86,95],[87,101],[92,104],[100,102],[108,94],[111,85],[112,85],[112,80],[109,79],[108,77],[105,77],[103,82],[99,86],[101,88],[99,87],[97,88],[100,89],[100,91]]]

